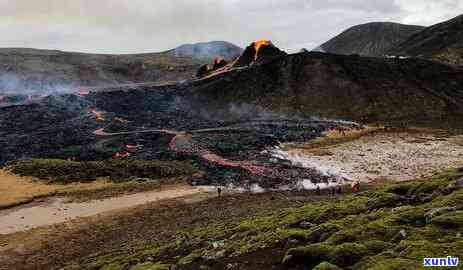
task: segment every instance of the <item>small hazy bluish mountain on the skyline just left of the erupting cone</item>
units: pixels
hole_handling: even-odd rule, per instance
[[[201,60],[210,60],[215,57],[223,57],[230,61],[240,56],[243,49],[226,41],[211,41],[195,44],[185,44],[173,50],[167,51],[167,54],[176,57],[191,57]]]

